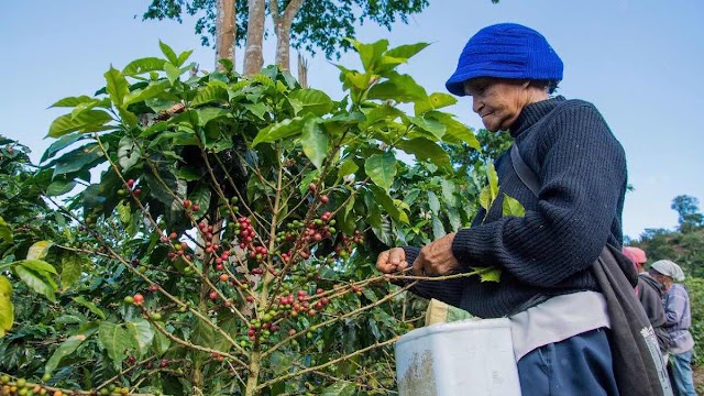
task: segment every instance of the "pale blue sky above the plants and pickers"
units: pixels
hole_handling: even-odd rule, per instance
[[[135,58],[161,56],[160,40],[176,52],[194,50],[191,61],[212,69],[215,53],[200,46],[195,20],[142,22],[148,3],[6,2],[0,13],[0,134],[30,146],[37,162],[52,143],[44,139],[51,122],[65,112],[48,107],[64,97],[92,95],[110,65],[121,69]],[[541,32],[565,65],[559,94],[593,102],[626,150],[635,190],[626,196],[624,233],[638,238],[645,229],[676,227],[670,208],[675,196],[704,204],[702,15],[701,0],[430,0],[408,24],[387,32],[366,23],[356,38],[387,38],[392,46],[431,43],[400,72],[433,92],[444,91],[460,52],[477,30],[516,22]],[[273,62],[273,43],[264,51],[265,62]],[[241,55],[235,55],[238,69]],[[341,99],[333,63],[358,68],[358,58],[304,55],[309,85]],[[471,99],[461,98],[449,111],[481,128],[471,106]]]

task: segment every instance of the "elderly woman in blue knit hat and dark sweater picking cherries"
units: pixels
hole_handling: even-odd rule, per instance
[[[519,24],[470,38],[447,88],[472,98],[487,130],[510,132],[539,194],[504,153],[488,212],[422,249],[385,251],[376,267],[393,273],[413,263],[416,274],[447,275],[497,266],[498,283],[471,276],[413,292],[481,318],[508,317],[524,395],[618,395],[606,301],[590,267],[606,243],[620,248],[626,160],[592,103],[549,96],[562,67],[546,38]],[[502,216],[504,194],[522,204],[525,217]]]

